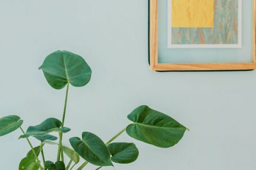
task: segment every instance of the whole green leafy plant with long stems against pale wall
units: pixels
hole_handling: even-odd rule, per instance
[[[91,79],[91,68],[86,61],[77,54],[58,50],[51,53],[39,67],[43,71],[48,84],[54,89],[66,87],[64,111],[61,121],[57,118],[47,118],[39,125],[29,126],[23,130],[23,120],[19,116],[10,115],[0,118],[0,136],[9,134],[18,128],[31,148],[21,160],[19,170],[77,170],[84,169],[88,163],[95,165],[96,169],[106,166],[114,166],[114,163],[128,164],[138,157],[138,149],[133,143],[113,143],[123,132],[136,140],[154,145],[160,148],[169,148],[176,145],[182,139],[187,128],[167,114],[155,111],[146,105],[137,107],[128,115],[131,124],[104,143],[91,132],[82,132],[82,137],[71,137],[69,142],[72,148],[62,145],[62,135],[70,131],[65,127],[66,105],[68,101],[69,86],[82,87]],[[57,135],[52,135],[57,132]],[[37,146],[33,146],[29,138],[38,140]],[[54,142],[58,140],[58,142]],[[56,160],[48,160],[44,155],[47,145],[56,145]],[[0,153],[1,154],[1,153]],[[41,157],[39,157],[41,154]],[[64,157],[64,154],[66,157]],[[42,159],[39,159],[42,158]],[[67,158],[68,161],[64,161]],[[79,163],[80,160],[84,161]]]

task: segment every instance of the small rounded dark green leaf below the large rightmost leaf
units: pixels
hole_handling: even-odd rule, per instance
[[[132,143],[112,143],[107,146],[115,163],[132,163],[138,158],[138,149]]]

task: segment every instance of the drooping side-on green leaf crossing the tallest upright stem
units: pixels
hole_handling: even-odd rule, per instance
[[[56,118],[48,118],[37,126],[30,126],[28,130],[26,130],[26,134],[21,135],[20,138],[26,138],[29,136],[46,136],[50,134],[50,132],[66,133],[70,131],[70,128],[68,127],[61,128],[61,125],[61,121]]]

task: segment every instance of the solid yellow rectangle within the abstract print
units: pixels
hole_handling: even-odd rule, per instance
[[[213,0],[172,0],[172,27],[213,26]]]

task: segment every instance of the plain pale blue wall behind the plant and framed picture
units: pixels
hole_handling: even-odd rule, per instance
[[[80,54],[93,70],[86,87],[70,90],[66,126],[72,131],[64,144],[82,131],[106,141],[129,123],[128,113],[148,104],[190,132],[170,149],[122,135],[116,141],[136,142],[140,157],[115,169],[256,168],[256,72],[150,71],[146,0],[1,0],[0,117],[19,114],[24,128],[61,117],[65,90],[52,89],[38,71],[57,49]],[[29,150],[19,135],[0,138],[1,169],[17,169]],[[53,149],[48,146],[47,159],[55,159]]]

